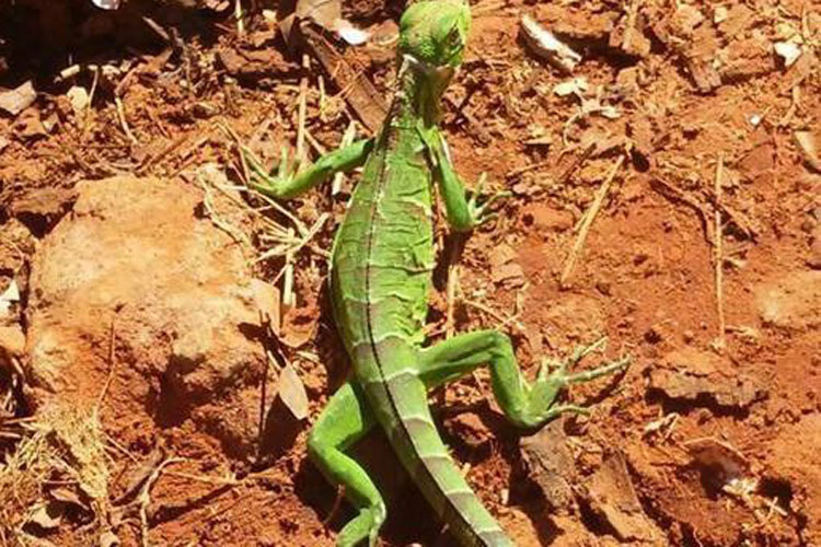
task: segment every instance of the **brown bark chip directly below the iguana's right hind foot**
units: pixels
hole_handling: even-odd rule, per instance
[[[578,481],[576,463],[565,434],[565,419],[553,420],[537,433],[519,440],[524,468],[547,501],[550,509],[569,512],[571,485]]]

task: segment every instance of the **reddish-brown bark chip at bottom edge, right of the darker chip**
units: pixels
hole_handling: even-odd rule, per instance
[[[590,478],[587,496],[590,508],[612,526],[618,539],[658,544],[661,533],[641,509],[621,451],[608,456]]]

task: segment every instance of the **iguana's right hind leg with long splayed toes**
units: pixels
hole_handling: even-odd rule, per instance
[[[597,342],[577,350],[570,362],[577,362],[601,347]],[[558,392],[567,384],[587,382],[623,370],[628,359],[576,374],[567,373],[562,363],[552,373],[543,365],[536,381],[529,383],[521,374],[510,338],[498,330],[479,330],[456,336],[420,352],[419,374],[430,388],[458,379],[477,366],[489,363],[494,394],[505,415],[523,428],[541,426],[562,412],[585,412],[574,405],[554,405]]]

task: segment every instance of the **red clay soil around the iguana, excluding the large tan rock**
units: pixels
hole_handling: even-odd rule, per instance
[[[13,24],[0,36],[0,83],[32,80],[37,90],[21,112],[0,113],[0,293],[12,279],[21,287],[13,310],[27,336],[35,311],[25,306],[39,298],[26,292],[31,265],[74,214],[78,182],[150,175],[200,191],[190,174],[208,163],[238,182],[228,131],[275,162],[296,142],[301,78],[312,158],[338,146],[357,119],[346,103],[355,84],[340,85],[343,75],[323,73],[316,60],[301,72],[270,13],[252,13],[240,36],[227,10],[233,2],[180,3],[203,5],[140,1],[115,15],[79,1],[2,9]],[[327,34],[383,100],[400,11],[346,4],[347,18],[373,31],[370,42],[346,47]],[[581,54],[573,74],[522,39],[522,14]],[[821,4],[809,0],[474,5],[442,126],[467,185],[487,172],[512,197],[464,244],[453,325],[447,263],[459,242],[439,223],[430,340],[500,328],[531,376],[542,357],[567,357],[602,336],[608,358],[633,358],[625,374],[568,391],[567,399],[591,406],[589,416],[536,437],[504,420],[484,370],[433,396],[446,443],[518,545],[821,545],[819,54]],[[74,62],[79,71],[58,78]],[[95,79],[88,63],[108,68]],[[583,81],[556,89],[574,78]],[[77,88],[94,89],[90,106],[72,104]],[[338,221],[355,178],[336,196],[323,187],[286,207],[309,226],[324,212]],[[323,224],[312,247],[328,249],[334,225]],[[300,421],[270,403],[266,412],[278,418],[255,432],[266,450],[231,450],[211,422],[169,418],[190,400],[153,414],[135,404],[131,394],[152,388],[139,372],[148,365],[114,345],[124,372],[113,374],[101,407],[109,508],[122,505],[135,477],[144,485],[157,473],[140,490],[150,498],[147,528],[138,512],[113,511],[108,540],[334,544],[352,511],[337,507],[307,459],[305,438],[348,364],[325,303],[324,259],[304,249],[297,260],[280,351],[305,386],[309,415]],[[258,263],[255,275],[274,281],[281,265]],[[13,383],[9,337],[2,342],[0,395],[10,398],[0,432],[38,404]],[[89,369],[70,374],[102,386],[108,347],[90,351]],[[27,359],[21,350],[26,371]],[[258,398],[262,385],[252,387]],[[7,455],[22,442],[4,439]],[[389,502],[383,545],[452,545],[381,434],[356,454]],[[182,461],[158,468],[172,456]],[[23,528],[53,545],[99,544],[84,511]],[[22,545],[7,525],[0,542]]]

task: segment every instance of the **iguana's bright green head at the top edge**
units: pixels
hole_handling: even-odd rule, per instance
[[[470,30],[471,8],[465,0],[416,2],[402,14],[398,51],[428,70],[455,69]]]

